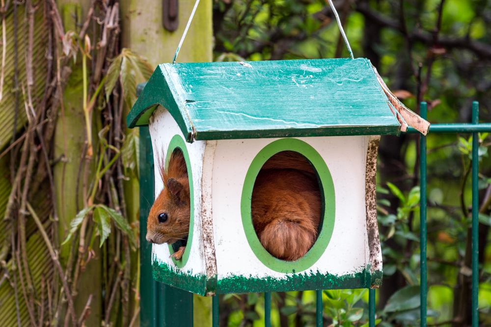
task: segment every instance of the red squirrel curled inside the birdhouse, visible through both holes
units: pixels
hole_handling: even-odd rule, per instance
[[[167,170],[160,161],[165,188],[147,220],[148,242],[173,244],[186,239],[190,225],[190,191],[186,161],[174,151]],[[252,190],[252,224],[263,247],[273,256],[293,261],[307,253],[317,239],[321,218],[317,176],[300,153],[282,151],[261,168]],[[171,256],[180,260],[186,247]]]

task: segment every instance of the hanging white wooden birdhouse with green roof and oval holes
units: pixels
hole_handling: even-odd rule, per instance
[[[186,251],[176,261],[154,244],[153,276],[200,295],[380,286],[380,135],[429,126],[364,58],[162,64],[127,123],[149,126],[155,167],[176,148],[185,156]],[[280,151],[308,159],[322,193],[318,237],[295,261],[266,251],[251,220],[256,176]],[[163,187],[156,169],[156,197]]]

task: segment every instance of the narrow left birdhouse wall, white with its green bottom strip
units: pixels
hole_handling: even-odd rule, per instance
[[[193,189],[191,203],[194,211],[194,215],[191,217],[192,231],[190,229],[190,239],[182,260],[176,262],[170,257],[171,252],[167,243],[153,245],[153,276],[154,279],[166,284],[204,295],[206,277],[201,234],[201,177],[206,141],[185,142],[186,138],[174,118],[162,106],[159,106],[154,111],[149,123],[155,164],[155,198],[157,199],[164,188],[159,172],[159,158],[167,159],[169,144],[171,144],[171,140],[176,135],[179,135],[182,140],[180,147],[184,146],[189,156],[190,167],[188,167],[188,173],[190,173],[189,168],[191,168]],[[175,146],[175,143],[173,144]],[[184,263],[184,261],[186,262]]]

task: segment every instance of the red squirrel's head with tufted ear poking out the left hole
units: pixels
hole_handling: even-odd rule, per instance
[[[147,219],[146,239],[155,244],[173,244],[189,234],[190,189],[186,160],[180,149],[172,152],[167,169],[159,160],[164,189],[155,200]]]

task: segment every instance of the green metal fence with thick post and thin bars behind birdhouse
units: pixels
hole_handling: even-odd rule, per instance
[[[421,117],[426,119],[427,105],[421,103]],[[434,124],[429,133],[472,133],[472,327],[478,327],[478,133],[491,132],[491,124],[479,124],[479,103],[472,103],[472,124]],[[407,133],[419,133],[409,127]],[[152,246],[146,239],[146,220],[154,201],[154,161],[148,127],[140,127],[140,326],[141,327],[191,327],[191,293],[156,282],[152,277]],[[421,327],[426,327],[427,313],[427,262],[426,262],[426,136],[420,136],[420,294]],[[316,290],[316,326],[322,327],[322,290]],[[265,327],[271,326],[271,293],[264,293]],[[369,326],[375,327],[375,290],[369,290]],[[218,327],[218,296],[213,297],[213,327]]]

